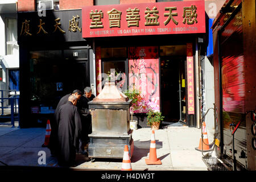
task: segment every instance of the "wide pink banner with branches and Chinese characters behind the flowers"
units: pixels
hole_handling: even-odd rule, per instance
[[[155,111],[160,111],[159,85],[158,47],[129,47],[129,89],[140,91]]]

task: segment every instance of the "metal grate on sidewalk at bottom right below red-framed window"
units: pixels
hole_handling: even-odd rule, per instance
[[[229,171],[217,158],[203,157],[202,159],[210,171]]]

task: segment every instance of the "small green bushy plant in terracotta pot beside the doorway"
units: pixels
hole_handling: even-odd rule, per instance
[[[158,130],[160,122],[163,121],[164,116],[162,113],[150,110],[147,113],[147,125],[151,126],[152,130]]]

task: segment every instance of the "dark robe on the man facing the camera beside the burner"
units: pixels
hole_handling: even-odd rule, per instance
[[[92,133],[92,115],[90,115],[88,102],[92,101],[93,98],[95,98],[93,94],[90,98],[87,98],[85,94],[83,94],[77,102],[77,107],[80,110],[82,121],[82,145],[89,142],[88,134]]]

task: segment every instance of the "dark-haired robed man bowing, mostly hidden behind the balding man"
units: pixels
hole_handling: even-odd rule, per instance
[[[49,149],[51,150],[52,155],[56,155],[56,151],[57,151],[57,131],[58,131],[59,123],[57,122],[56,114],[59,112],[60,106],[68,102],[68,97],[71,95],[76,96],[77,99],[79,100],[82,96],[82,92],[80,90],[74,90],[72,93],[69,93],[63,96],[56,107],[56,110],[54,113],[54,119],[53,121],[51,121],[51,135],[49,139]]]

